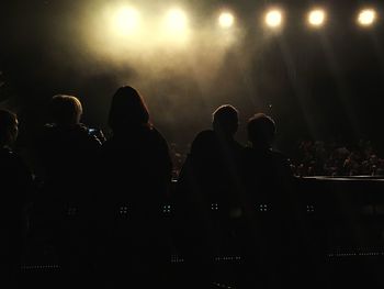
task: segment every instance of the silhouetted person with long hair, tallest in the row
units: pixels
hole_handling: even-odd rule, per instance
[[[168,144],[129,86],[113,96],[109,125],[113,135],[102,146],[99,197],[108,286],[161,287],[170,262],[162,216],[172,169]]]

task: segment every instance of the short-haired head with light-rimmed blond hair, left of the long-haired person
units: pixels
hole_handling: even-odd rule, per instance
[[[50,100],[49,112],[57,125],[75,125],[80,122],[82,105],[76,97],[57,95]]]

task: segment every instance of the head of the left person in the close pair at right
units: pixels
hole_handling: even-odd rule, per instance
[[[213,113],[213,130],[226,136],[234,136],[239,126],[238,111],[230,104],[218,107]]]

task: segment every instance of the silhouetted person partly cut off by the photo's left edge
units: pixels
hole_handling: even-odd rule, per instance
[[[18,118],[0,110],[0,285],[16,288],[22,253],[23,207],[32,185],[32,175],[20,156],[12,151],[18,137]]]

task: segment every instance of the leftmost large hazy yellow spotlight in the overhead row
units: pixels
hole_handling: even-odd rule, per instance
[[[140,15],[136,9],[124,7],[114,15],[114,29],[121,34],[132,33],[137,29],[139,19]]]

